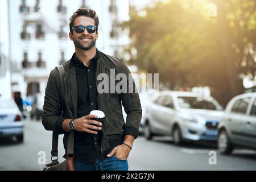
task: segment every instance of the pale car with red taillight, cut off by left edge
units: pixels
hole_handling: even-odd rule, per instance
[[[22,113],[13,99],[0,98],[0,137],[13,136],[23,142]]]

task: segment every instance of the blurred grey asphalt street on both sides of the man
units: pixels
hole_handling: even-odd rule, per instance
[[[39,151],[46,152],[50,162],[51,132],[40,121],[24,122],[24,143],[14,139],[0,140],[0,170],[42,170],[38,164]],[[59,139],[59,159],[64,154]],[[233,155],[217,152],[217,164],[209,164],[209,151],[217,151],[213,144],[187,144],[177,147],[168,137],[152,141],[139,136],[129,155],[129,170],[256,170],[256,151],[235,150]]]

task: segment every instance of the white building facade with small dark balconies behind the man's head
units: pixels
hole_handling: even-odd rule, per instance
[[[11,81],[23,97],[44,93],[51,69],[75,52],[68,38],[69,18],[79,7],[89,7],[99,16],[97,48],[123,58],[129,35],[119,25],[129,20],[129,0],[9,1],[10,59],[15,67]]]

